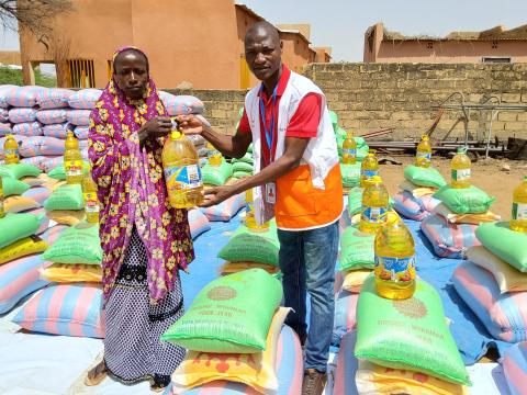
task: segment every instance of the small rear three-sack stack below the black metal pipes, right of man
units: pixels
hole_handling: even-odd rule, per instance
[[[447,182],[436,169],[410,165],[404,169],[401,191],[393,198],[393,208],[406,218],[423,221],[439,204],[433,198],[436,191]]]

